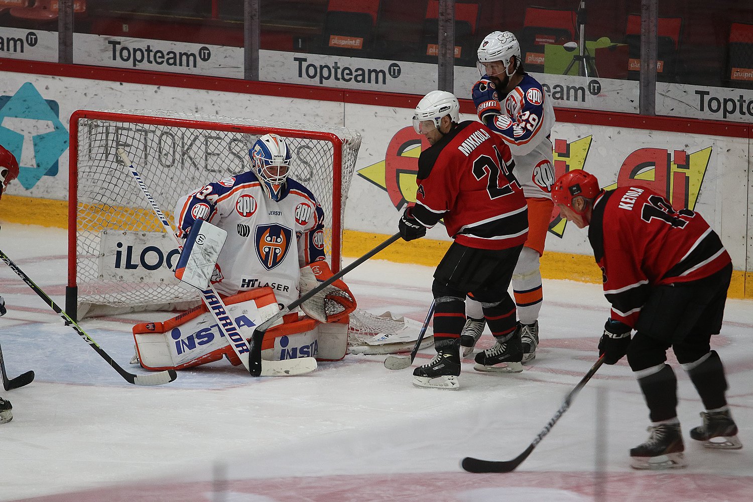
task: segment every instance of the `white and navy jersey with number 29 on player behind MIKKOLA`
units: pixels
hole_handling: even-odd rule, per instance
[[[501,114],[490,115],[486,125],[510,147],[523,194],[550,199],[554,184],[550,133],[555,117],[549,96],[535,78],[524,73],[501,108]]]

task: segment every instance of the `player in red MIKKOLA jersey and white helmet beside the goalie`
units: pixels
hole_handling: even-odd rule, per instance
[[[526,199],[512,174],[510,148],[482,123],[459,122],[459,110],[453,94],[436,90],[421,99],[413,115],[413,127],[431,147],[419,157],[416,204],[405,209],[400,233],[406,241],[418,239],[444,218],[447,235],[454,239],[434,271],[437,356],[413,372],[413,383],[422,387],[459,386],[459,337],[468,294],[480,301],[497,339],[494,347],[477,354],[475,369],[523,370],[508,287],[528,235]]]

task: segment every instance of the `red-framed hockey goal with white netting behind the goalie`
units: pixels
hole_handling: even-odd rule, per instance
[[[337,272],[358,132],[175,111],[80,110],[70,122],[69,315],[181,308],[199,298],[172,275],[174,242],[118,160],[118,147],[174,224],[179,197],[247,171],[248,148],[268,132],[288,141],[291,177],[312,190],[325,211],[325,252]]]

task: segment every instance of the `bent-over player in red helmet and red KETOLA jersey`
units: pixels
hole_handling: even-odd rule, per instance
[[[611,318],[599,355],[605,355],[606,364],[627,355],[648,404],[651,436],[630,449],[632,467],[685,465],[677,379],[665,364],[670,347],[706,408],[703,425],[691,430],[691,438],[710,448],[742,448],[727,406],[724,367],[709,345],[721,329],[732,275],[732,260],[719,236],[700,214],[675,211],[658,193],[643,187],[599,190],[596,177],[580,169],[562,175],[552,197],[568,221],[589,226],[588,239],[602,269]]]

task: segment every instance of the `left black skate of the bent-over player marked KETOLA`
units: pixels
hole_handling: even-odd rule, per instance
[[[645,443],[630,449],[633,469],[672,469],[685,467],[685,446],[680,424],[659,424],[648,427],[651,436]]]

